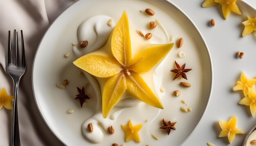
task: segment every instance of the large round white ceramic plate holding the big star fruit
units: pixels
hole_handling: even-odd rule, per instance
[[[165,0],[79,0],[51,24],[38,46],[33,65],[32,80],[36,104],[47,126],[63,144],[68,146],[91,145],[83,137],[81,125],[93,113],[96,103],[93,98],[95,93],[89,86],[86,91],[86,94],[91,97],[88,100],[88,107],[81,108],[79,102],[74,100],[77,94],[76,86],[81,87],[86,82],[84,76],[79,76],[79,69],[72,64],[72,61],[76,59],[72,53],[72,42],[77,43],[76,33],[79,24],[94,15],[108,15],[118,21],[121,13],[126,10],[133,28],[137,30],[144,28],[148,22],[154,20],[147,18],[148,21],[145,22],[145,18],[143,18],[145,16],[139,10],[143,11],[146,8],[156,11],[155,17],[166,28],[168,35],[173,37],[172,42],[176,42],[180,37],[184,38],[182,49],[173,47],[163,62],[166,66],[164,80],[170,82],[162,84],[166,88],[165,93],[162,94],[158,91],[165,107],[165,111],[162,113],[163,115],[168,114],[172,118],[171,120],[177,121],[177,130],[171,132],[169,136],[160,137],[160,140],[157,141],[150,134],[161,135],[165,131],[159,131],[158,128],[150,129],[147,135],[141,135],[141,143],[132,141],[125,143],[124,132],[120,126],[115,129],[119,134],[108,137],[104,143],[95,145],[110,146],[114,142],[126,146],[135,144],[181,145],[198,125],[211,95],[213,72],[207,45],[190,18],[175,4]],[[186,57],[178,58],[179,51],[184,51]],[[69,58],[64,57],[67,52],[70,52]],[[184,90],[179,86],[179,82],[185,80],[172,81],[174,74],[169,70],[174,68],[174,60],[180,64],[186,62],[187,67],[193,68],[188,77],[192,84],[191,88]],[[58,88],[56,83],[62,82],[64,79],[70,81],[69,85],[65,89]],[[174,97],[171,94],[176,89],[182,91],[181,97]],[[185,106],[180,102],[182,99],[189,103],[188,107],[192,108],[192,112],[182,113],[180,111],[180,107]],[[75,113],[67,114],[66,111],[69,109],[74,109]],[[126,112],[126,114],[128,113]],[[147,117],[120,116],[120,121],[126,124],[124,121],[128,121],[129,118],[144,122]],[[136,124],[139,124],[137,121]],[[155,124],[160,125],[159,121],[155,121]],[[144,125],[146,126],[146,123]],[[119,136],[118,139],[117,136]]]

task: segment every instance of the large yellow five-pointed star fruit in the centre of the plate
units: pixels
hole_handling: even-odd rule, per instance
[[[141,74],[147,74],[148,80],[150,77],[153,79],[153,71],[172,47],[173,43],[149,44],[139,39],[124,11],[107,43],[73,63],[98,80],[102,93],[102,114],[106,118],[110,110],[124,99],[122,95],[125,92],[150,106],[163,108],[153,81],[146,83]]]

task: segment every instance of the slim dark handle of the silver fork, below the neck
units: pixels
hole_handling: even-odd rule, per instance
[[[20,146],[20,130],[18,119],[18,86],[19,80],[14,82],[14,106],[13,106],[13,119],[12,119],[12,137],[11,146]]]

